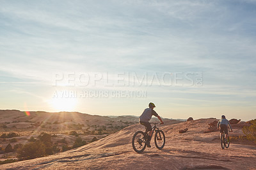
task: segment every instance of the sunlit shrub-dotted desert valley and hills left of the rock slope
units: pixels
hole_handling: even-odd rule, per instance
[[[92,116],[78,112],[1,111],[0,164],[44,157],[102,139],[138,118]]]

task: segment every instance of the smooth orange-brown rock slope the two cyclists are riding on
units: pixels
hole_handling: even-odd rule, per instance
[[[255,169],[256,146],[231,143],[222,150],[219,132],[204,134],[215,119],[200,119],[171,124],[166,121],[160,128],[166,134],[166,145],[138,154],[132,150],[134,132],[143,130],[139,124],[111,134],[74,150],[12,164],[1,169]],[[180,129],[188,128],[186,133]],[[230,135],[241,135],[234,128]]]

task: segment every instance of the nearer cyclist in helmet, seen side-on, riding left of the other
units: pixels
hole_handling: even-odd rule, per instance
[[[151,125],[149,123],[149,120],[151,120],[152,115],[154,115],[154,116],[156,116],[161,121],[161,124],[163,124],[164,122],[160,118],[160,116],[158,116],[156,111],[154,111],[154,107],[156,107],[155,104],[149,103],[148,107],[149,108],[145,109],[143,111],[143,113],[141,114],[141,116],[140,116],[140,124],[144,125],[146,127],[146,131],[148,132],[148,139],[146,141],[146,144],[147,144],[148,148],[150,148],[151,147],[150,146],[150,140],[151,140],[151,136],[152,136],[153,130],[152,130],[152,127],[151,127]]]

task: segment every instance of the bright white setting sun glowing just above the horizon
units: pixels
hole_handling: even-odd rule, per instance
[[[55,111],[74,111],[77,98],[52,98],[49,104]]]

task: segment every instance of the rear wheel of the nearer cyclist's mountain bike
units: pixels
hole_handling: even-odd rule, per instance
[[[132,148],[137,153],[141,153],[146,148],[147,137],[144,132],[138,131],[132,137]]]

